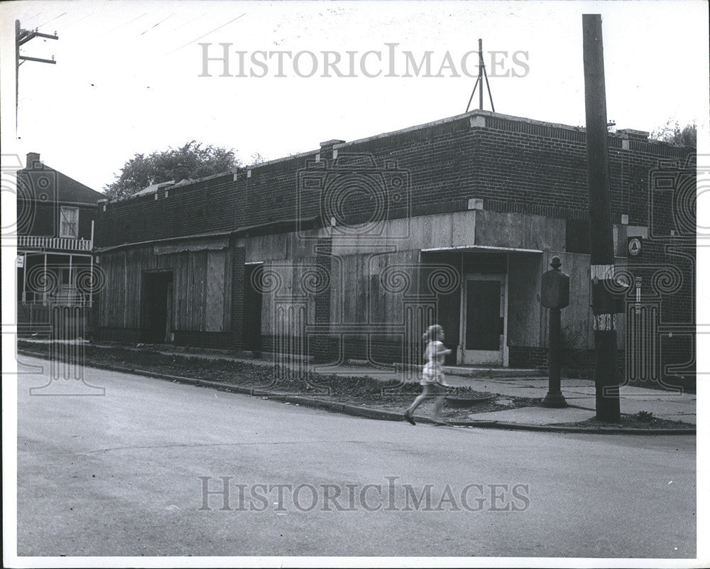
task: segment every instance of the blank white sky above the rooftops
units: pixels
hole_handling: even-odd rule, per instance
[[[460,114],[475,82],[448,72],[273,77],[275,60],[263,78],[219,77],[219,62],[209,64],[213,77],[198,77],[202,42],[213,44],[211,56],[221,55],[219,43],[233,44],[233,74],[236,50],[333,50],[346,58],[346,50],[386,52],[385,43],[399,43],[417,60],[431,50],[436,73],[447,50],[459,67],[482,38],[484,52],[528,53],[525,77],[491,77],[496,111],[584,125],[582,13],[603,17],[608,118],[617,128],[651,131],[669,118],[707,122],[703,1],[18,1],[0,4],[4,134],[14,128],[15,19],[23,28],[58,33],[59,40],[35,38],[22,49],[55,55],[58,63],[21,65],[18,138],[3,136],[3,151],[23,160],[39,152],[100,191],[136,152],[196,139],[234,148],[244,162],[255,152],[279,158],[328,139]],[[307,73],[309,60],[302,61]],[[475,56],[470,61],[475,74]],[[507,62],[506,69],[522,70]],[[487,95],[484,108],[490,109]]]

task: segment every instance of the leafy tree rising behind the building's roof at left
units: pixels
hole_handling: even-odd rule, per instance
[[[239,166],[241,161],[236,158],[234,150],[221,146],[202,146],[202,143],[193,140],[180,148],[168,148],[148,156],[136,153],[126,161],[121,173],[116,175],[116,180],[104,187],[104,194],[109,199],[126,197],[149,185],[175,180],[176,175],[204,178]]]

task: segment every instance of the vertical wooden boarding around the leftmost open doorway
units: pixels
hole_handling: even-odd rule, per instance
[[[231,332],[232,255],[229,249],[154,254],[152,246],[104,253],[102,327],[141,327],[143,271],[172,271],[175,330]]]

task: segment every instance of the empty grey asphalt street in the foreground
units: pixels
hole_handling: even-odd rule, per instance
[[[47,365],[18,376],[21,556],[696,553],[694,437],[413,427],[97,369],[84,396]]]

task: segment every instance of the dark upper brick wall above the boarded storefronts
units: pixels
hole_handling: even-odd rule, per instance
[[[410,180],[406,199],[387,201],[386,217],[462,210],[470,197],[480,197],[491,210],[586,219],[584,131],[498,116],[487,121],[486,128],[471,128],[466,117],[351,144],[339,149],[336,161],[315,164],[315,171],[334,180],[353,154],[368,156],[361,164],[371,161],[376,170],[367,170],[375,176],[371,179],[385,185],[393,173],[404,171]],[[624,150],[621,136],[610,135],[608,141],[613,220],[618,223],[623,213],[630,224],[648,225],[650,171],[661,160],[684,162],[689,149],[630,138]],[[168,188],[157,200],[148,195],[108,203],[105,212],[99,207],[97,246],[319,215],[322,193],[299,188],[299,172],[314,158],[315,153],[258,166],[251,175],[240,170],[236,181],[230,173]],[[395,161],[396,168],[388,170],[386,161]],[[345,215],[367,217],[370,201],[344,203]]]

